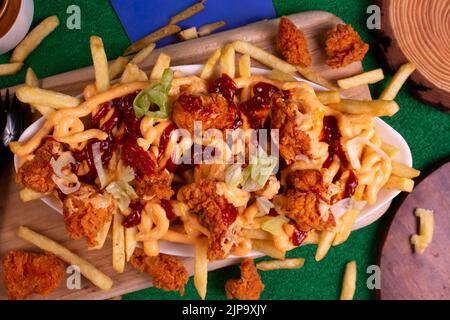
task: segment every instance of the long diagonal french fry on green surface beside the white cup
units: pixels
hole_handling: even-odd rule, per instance
[[[11,62],[24,62],[28,55],[59,25],[57,16],[42,20],[14,49]]]

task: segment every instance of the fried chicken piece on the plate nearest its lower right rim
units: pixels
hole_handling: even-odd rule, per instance
[[[329,206],[314,192],[288,189],[284,195],[275,197],[274,205],[294,220],[301,231],[331,230],[336,226]]]

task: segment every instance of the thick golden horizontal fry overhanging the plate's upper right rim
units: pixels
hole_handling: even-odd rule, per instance
[[[392,116],[400,109],[395,101],[385,100],[347,100],[328,105],[342,113],[366,114],[372,117]]]

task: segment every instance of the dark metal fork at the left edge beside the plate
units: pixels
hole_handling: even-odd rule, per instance
[[[25,109],[16,95],[11,97],[9,90],[2,96],[0,94],[0,169],[12,158],[9,150],[11,141],[19,139],[25,127]]]

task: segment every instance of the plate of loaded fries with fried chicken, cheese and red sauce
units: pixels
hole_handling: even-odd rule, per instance
[[[320,260],[412,190],[410,149],[379,118],[399,110],[396,79],[385,99],[358,101],[245,41],[202,65],[171,66],[161,53],[150,76],[134,63],[108,68],[98,37],[91,49],[95,84],[80,96],[17,89],[44,116],[11,150],[22,200],[59,212],[88,249],[111,233],[118,272],[159,253],[193,257],[204,297],[208,262],[268,255],[279,261],[266,268],[295,268],[300,261],[285,254],[303,244],[318,244]],[[58,247],[27,228],[19,236]],[[91,278],[111,286],[98,272]]]

